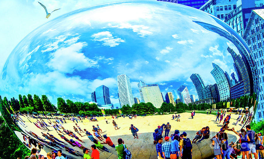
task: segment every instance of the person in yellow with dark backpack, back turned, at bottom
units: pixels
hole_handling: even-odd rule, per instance
[[[179,142],[181,158],[192,159],[192,141],[189,138],[187,138],[186,132],[183,132],[182,136],[183,138]]]

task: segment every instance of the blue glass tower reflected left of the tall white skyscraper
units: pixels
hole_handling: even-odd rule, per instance
[[[109,88],[104,85],[101,85],[95,89],[95,97],[97,103],[101,105],[111,104]]]

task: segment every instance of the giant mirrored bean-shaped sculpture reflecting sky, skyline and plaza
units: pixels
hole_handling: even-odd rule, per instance
[[[104,141],[92,131],[98,124],[114,145],[122,138],[133,158],[157,158],[152,133],[163,123],[191,140],[205,126],[210,138],[220,131],[217,110],[231,114],[229,128],[249,124],[258,102],[255,65],[236,31],[206,12],[161,1],[104,4],[57,17],[18,43],[1,72],[0,111],[21,142],[43,155],[60,149],[83,158],[83,147],[94,144],[83,129]],[[155,111],[120,112],[142,115],[133,119],[85,114],[134,105]],[[177,108],[180,122],[166,115],[166,106]],[[238,140],[226,133],[229,142]],[[214,156],[210,138],[193,143],[193,158]],[[100,151],[101,158],[117,158],[104,146],[110,152]]]

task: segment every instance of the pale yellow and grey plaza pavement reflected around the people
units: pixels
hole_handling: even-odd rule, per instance
[[[142,159],[154,159],[157,158],[156,148],[155,145],[153,145],[153,135],[152,133],[154,130],[158,127],[158,125],[162,125],[163,123],[167,124],[167,122],[171,125],[171,131],[169,135],[174,133],[174,130],[178,129],[180,130],[180,133],[185,131],[187,133],[187,137],[191,140],[196,135],[196,132],[200,130],[201,128],[205,126],[209,126],[210,128],[210,138],[213,137],[221,128],[221,124],[217,124],[218,122],[215,122],[216,116],[215,115],[207,115],[202,113],[196,113],[194,118],[191,118],[191,113],[181,113],[180,116],[180,122],[177,122],[177,120],[172,120],[172,114],[168,115],[154,115],[154,116],[138,116],[137,118],[129,119],[128,117],[118,119],[113,119],[111,116],[107,117],[98,117],[98,122],[89,122],[88,119],[84,119],[83,123],[77,123],[80,128],[88,130],[90,133],[93,134],[92,131],[92,125],[99,125],[99,127],[102,129],[103,133],[101,135],[107,135],[111,138],[112,142],[117,145],[117,139],[122,138],[124,143],[127,145],[128,149],[132,153],[132,158],[142,158]],[[227,116],[227,114],[226,114]],[[27,130],[31,130],[33,133],[37,134],[38,136],[42,137],[41,132],[47,133],[47,131],[40,130],[37,128],[33,123],[30,123],[25,117],[21,116],[21,118],[26,122],[25,124],[28,125],[26,127]],[[104,118],[108,120],[108,124],[106,124]],[[234,125],[234,122],[236,122],[236,119],[238,118],[238,115],[232,114],[229,128],[235,128],[236,131],[241,129],[240,125]],[[31,122],[35,122],[36,119],[30,119]],[[47,119],[43,119],[47,124]],[[116,124],[118,125],[118,130],[114,129],[114,126],[112,124],[112,120],[116,121]],[[53,121],[51,119],[51,121]],[[71,120],[66,120],[67,123],[62,124],[62,126],[67,129],[73,130],[73,126],[75,123],[73,123]],[[222,121],[223,122],[223,121]],[[239,122],[240,123],[240,122]],[[138,139],[132,136],[131,130],[129,130],[130,125],[133,124],[136,128],[139,129],[138,131]],[[53,127],[48,127],[51,131],[49,131],[50,134],[54,135],[56,138],[60,139],[60,136],[56,133]],[[21,127],[22,130],[24,130],[24,127]],[[61,129],[62,131],[62,129]],[[63,131],[62,131],[63,132]],[[238,140],[238,136],[231,132],[231,131],[225,131],[229,135],[229,143],[231,141],[235,142]],[[163,137],[164,137],[163,132]],[[84,147],[91,149],[91,145],[94,144],[92,141],[88,139],[88,137],[85,135],[85,133],[81,133],[83,137],[80,137],[78,134],[77,136],[84,141],[82,145]],[[19,137],[19,136],[18,136]],[[74,139],[68,135],[65,135],[66,138]],[[23,138],[19,137],[23,140]],[[94,137],[96,138],[96,137]],[[211,146],[211,141],[209,139],[205,139],[202,141],[202,143],[194,143],[193,144],[193,159],[203,159],[203,158],[211,158],[213,157],[213,147]],[[76,140],[76,139],[75,139]],[[64,141],[62,139],[62,141]],[[171,140],[170,140],[171,142]],[[102,143],[102,142],[101,142]],[[102,159],[117,159],[117,153],[114,148],[111,148],[109,145],[104,144],[106,148],[108,148],[111,153],[108,152],[100,152],[100,158]],[[75,150],[78,150],[80,154],[82,153],[82,150],[80,150],[77,147],[72,147],[68,144],[68,147],[73,148]],[[62,149],[63,150],[63,149]],[[65,150],[63,150],[65,152]],[[46,152],[42,150],[40,154],[45,155]],[[67,152],[66,152],[67,154]],[[91,155],[91,153],[89,153]],[[76,157],[76,158],[82,158],[82,157]]]

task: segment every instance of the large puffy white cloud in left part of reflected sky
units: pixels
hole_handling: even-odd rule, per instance
[[[64,73],[72,73],[74,70],[84,70],[97,66],[97,61],[87,58],[83,53],[79,53],[85,46],[87,46],[86,42],[79,42],[66,48],[57,49],[51,53],[48,66]]]

